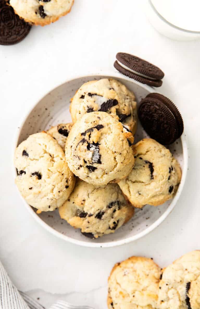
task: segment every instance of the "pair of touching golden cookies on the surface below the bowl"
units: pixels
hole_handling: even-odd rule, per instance
[[[107,304],[109,309],[199,309],[200,251],[185,254],[165,269],[140,256],[115,264]]]

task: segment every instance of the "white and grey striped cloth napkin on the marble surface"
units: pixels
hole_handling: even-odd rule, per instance
[[[53,304],[49,309],[92,309],[87,306],[74,306],[62,300]],[[0,262],[0,309],[45,309],[35,300],[20,292],[12,284],[2,263]]]

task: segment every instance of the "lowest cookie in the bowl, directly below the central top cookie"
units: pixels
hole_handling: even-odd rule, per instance
[[[134,214],[117,184],[94,186],[77,178],[69,199],[59,208],[60,217],[83,235],[97,238],[114,233]]]

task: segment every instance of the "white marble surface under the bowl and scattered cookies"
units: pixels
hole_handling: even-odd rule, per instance
[[[33,27],[20,44],[0,45],[0,260],[15,285],[46,307],[61,298],[106,308],[107,277],[115,262],[144,255],[165,266],[200,249],[200,41],[161,36],[138,2],[75,0],[68,16],[44,28]],[[165,72],[159,91],[181,110],[189,171],[175,209],[149,235],[116,248],[81,248],[49,234],[25,209],[14,185],[13,139],[38,98],[72,76],[115,70],[118,51],[143,57]]]

